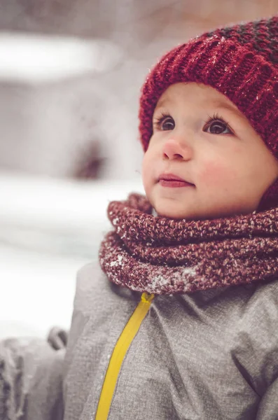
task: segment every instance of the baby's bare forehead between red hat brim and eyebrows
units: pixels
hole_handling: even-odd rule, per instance
[[[190,104],[190,106],[214,106],[217,108],[225,108],[243,114],[237,109],[228,97],[218,92],[214,87],[203,85],[202,83],[175,83],[162,93],[155,109],[174,104]]]

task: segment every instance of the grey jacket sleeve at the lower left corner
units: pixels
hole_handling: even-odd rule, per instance
[[[43,339],[0,342],[1,419],[63,419],[64,351]]]

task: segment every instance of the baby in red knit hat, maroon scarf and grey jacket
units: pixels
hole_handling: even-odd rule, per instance
[[[65,420],[278,419],[277,48],[274,17],[149,73],[146,197],[109,204],[78,273]]]

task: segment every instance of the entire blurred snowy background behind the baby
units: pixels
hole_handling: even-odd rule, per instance
[[[69,328],[106,207],[143,192],[138,99],[165,50],[278,0],[0,0],[0,337]],[[92,279],[93,281],[93,279]]]

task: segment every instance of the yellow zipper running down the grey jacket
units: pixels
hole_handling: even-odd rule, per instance
[[[123,329],[123,332],[121,333],[118,342],[113,349],[113,353],[106,370],[95,420],[106,420],[108,418],[113,393],[116,388],[118,374],[120,373],[120,367],[123,363],[123,359],[125,358],[125,354],[127,353],[127,350],[132,343],[132,340],[134,339],[135,335],[137,335],[142,321],[144,320],[146,314],[148,314],[148,309],[151,306],[153,297],[154,295],[149,295],[148,293],[143,293],[141,295],[141,301],[134,309],[132,316],[130,316],[130,319],[125,325],[125,328]]]

